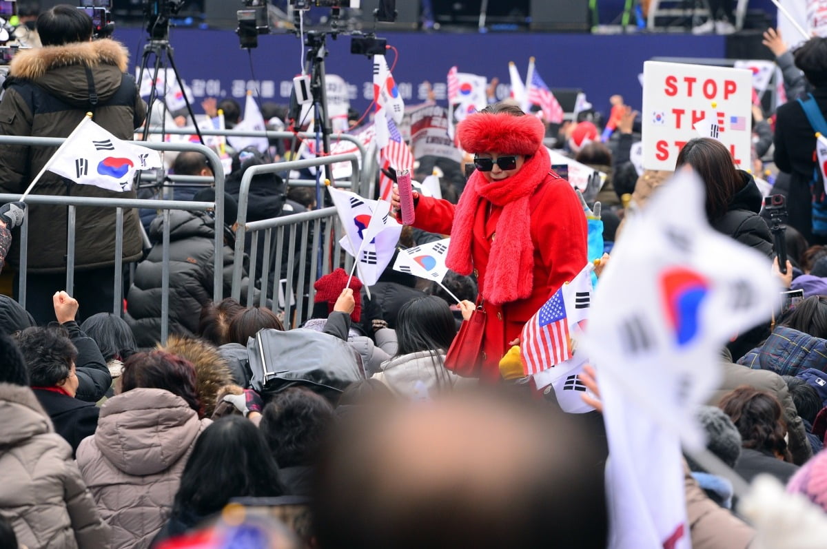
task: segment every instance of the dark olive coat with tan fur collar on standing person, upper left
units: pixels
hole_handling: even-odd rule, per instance
[[[76,42],[20,51],[12,60],[0,102],[0,135],[65,137],[86,112],[120,139],[131,139],[146,117],[135,79],[126,74],[126,48],[112,40]],[[87,68],[89,72],[87,73]],[[89,85],[91,75],[93,86]],[[97,103],[93,106],[90,96]],[[0,146],[0,193],[22,194],[57,147]],[[115,193],[79,185],[46,172],[33,194],[136,198],[134,191]],[[30,205],[28,269],[60,272],[66,268],[65,206]],[[115,209],[77,208],[75,266],[92,269],[114,264]],[[141,233],[135,210],[124,212],[123,260],[141,256]],[[17,239],[7,260],[17,265]]]

